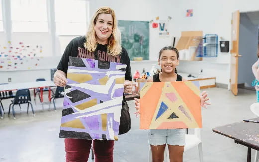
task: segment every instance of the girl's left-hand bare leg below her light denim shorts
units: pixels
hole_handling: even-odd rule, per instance
[[[152,162],[163,162],[164,161],[164,145],[150,145],[152,151]]]

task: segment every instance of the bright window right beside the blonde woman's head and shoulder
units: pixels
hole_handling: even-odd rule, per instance
[[[60,55],[75,37],[85,35],[88,20],[87,0],[55,0],[56,33],[60,43]]]

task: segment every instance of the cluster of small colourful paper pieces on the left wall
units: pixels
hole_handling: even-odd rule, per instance
[[[18,46],[14,47],[11,41],[8,41],[7,45],[0,44],[0,71],[19,69],[20,65],[23,64],[24,61],[28,62],[28,60],[35,61],[32,62],[32,65],[28,65],[27,69],[31,69],[30,66],[36,67],[39,65],[39,58],[42,58],[39,57],[41,53],[42,46],[39,45],[33,47],[19,42]],[[36,59],[36,57],[38,58]],[[22,67],[24,68],[24,65]]]

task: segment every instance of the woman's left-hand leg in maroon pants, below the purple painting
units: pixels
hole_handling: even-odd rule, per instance
[[[66,162],[87,162],[92,140],[65,139]]]

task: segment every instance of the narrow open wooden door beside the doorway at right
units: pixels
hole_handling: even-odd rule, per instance
[[[238,58],[239,55],[239,10],[232,13],[231,20],[231,60],[230,60],[230,89],[234,95],[238,94]]]

